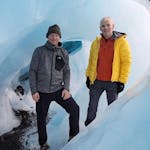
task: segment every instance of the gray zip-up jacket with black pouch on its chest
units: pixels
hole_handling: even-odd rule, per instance
[[[50,42],[35,49],[30,69],[31,93],[52,93],[62,88],[69,90],[70,67],[68,52]]]

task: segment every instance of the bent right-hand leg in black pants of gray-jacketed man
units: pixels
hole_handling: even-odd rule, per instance
[[[62,90],[56,92],[54,100],[69,113],[69,136],[74,137],[79,133],[79,106],[72,97],[63,100],[61,95]]]

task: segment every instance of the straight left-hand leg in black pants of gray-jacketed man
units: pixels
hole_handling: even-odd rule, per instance
[[[50,105],[50,95],[47,93],[39,93],[40,99],[36,103],[36,113],[37,113],[37,128],[39,135],[39,144],[42,146],[47,141],[46,132],[46,117],[48,108]]]

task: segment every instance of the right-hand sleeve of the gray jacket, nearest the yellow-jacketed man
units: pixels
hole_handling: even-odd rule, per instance
[[[66,65],[63,69],[63,80],[64,80],[64,89],[69,91],[70,88],[70,66],[69,66],[69,56],[66,54]]]

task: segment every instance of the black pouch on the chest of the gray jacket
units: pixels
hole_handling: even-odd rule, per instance
[[[65,61],[62,56],[56,55],[55,57],[55,69],[60,71],[65,65]]]

